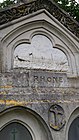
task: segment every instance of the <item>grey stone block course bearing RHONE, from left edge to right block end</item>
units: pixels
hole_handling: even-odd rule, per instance
[[[17,78],[16,78],[17,77]],[[67,87],[67,75],[46,70],[14,70],[1,74],[1,87]]]

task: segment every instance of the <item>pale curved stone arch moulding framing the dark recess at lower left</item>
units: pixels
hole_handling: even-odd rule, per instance
[[[13,122],[26,127],[33,140],[52,140],[51,132],[45,121],[29,108],[16,106],[0,113],[0,130]]]

